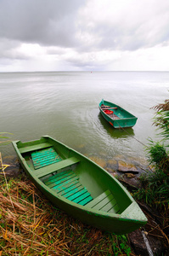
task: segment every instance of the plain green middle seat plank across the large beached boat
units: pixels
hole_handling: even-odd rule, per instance
[[[37,170],[35,170],[35,174],[37,177],[44,177],[53,172],[57,172],[60,169],[74,165],[74,164],[78,163],[79,161],[80,160],[77,159],[76,157],[70,157],[66,160],[61,160],[51,166],[45,166],[40,169],[37,169]]]

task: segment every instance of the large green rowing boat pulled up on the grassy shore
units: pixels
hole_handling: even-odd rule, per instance
[[[74,218],[115,234],[146,224],[147,218],[127,189],[82,154],[48,136],[13,145],[37,188]]]

